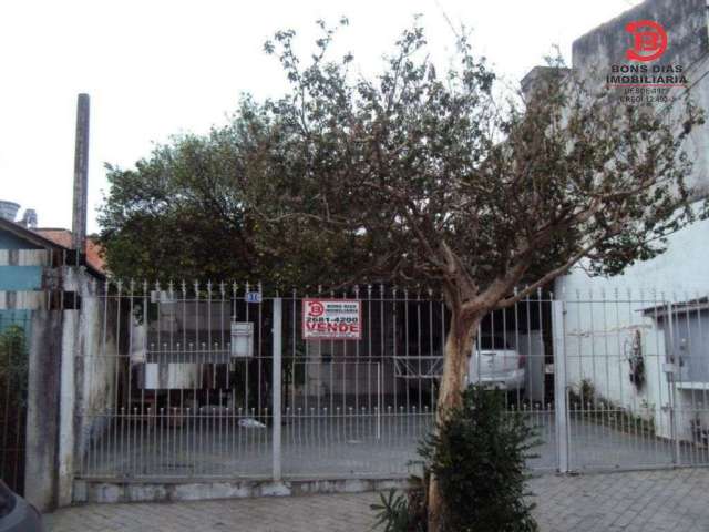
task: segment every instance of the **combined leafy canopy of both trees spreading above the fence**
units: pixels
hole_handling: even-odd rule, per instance
[[[352,54],[330,58],[335,30],[319,25],[307,64],[291,30],[265,45],[284,98],[244,98],[229,125],[176,137],[135,170],[109,166],[114,273],[395,278],[440,284],[472,310],[582,258],[618,273],[691,219],[678,208],[691,196],[679,151],[700,120],[690,104],[679,117],[615,104],[559,62],[534,98],[500,98],[464,38],[440,74],[418,24],[366,79]]]

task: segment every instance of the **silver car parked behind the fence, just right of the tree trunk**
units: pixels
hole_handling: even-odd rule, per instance
[[[480,335],[470,357],[467,381],[501,390],[523,390],[526,357],[501,335]]]

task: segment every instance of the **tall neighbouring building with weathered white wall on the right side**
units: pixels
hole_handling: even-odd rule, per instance
[[[626,60],[631,35],[626,25],[650,20],[667,31],[666,53],[651,65],[681,65],[687,86],[709,110],[709,25],[705,0],[647,0],[580,37],[573,45],[573,69],[592,82],[605,82],[613,64]],[[635,63],[637,64],[637,63]],[[697,129],[684,145],[695,167],[689,185],[696,208],[709,194],[709,125]],[[677,412],[681,438],[709,434],[709,221],[699,221],[671,235],[665,254],[629,266],[612,278],[589,278],[579,267],[555,283],[566,301],[568,381],[593,385],[600,396],[634,415],[654,420],[659,436],[672,430],[667,413]],[[592,311],[577,311],[582,303]],[[613,328],[605,324],[613,324]],[[643,378],[637,377],[641,361]],[[676,369],[676,386],[671,370]],[[668,370],[670,374],[668,374]]]

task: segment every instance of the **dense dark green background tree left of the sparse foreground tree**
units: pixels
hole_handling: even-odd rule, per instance
[[[354,238],[322,238],[297,221],[276,227],[258,216],[254,202],[266,205],[290,192],[264,175],[264,143],[274,126],[267,105],[245,96],[227,126],[175,136],[133,170],[107,165],[99,222],[110,272],[151,280],[261,279],[286,288],[351,275]]]

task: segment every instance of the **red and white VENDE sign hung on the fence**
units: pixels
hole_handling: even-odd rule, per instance
[[[361,340],[361,301],[357,299],[304,299],[302,339]]]

